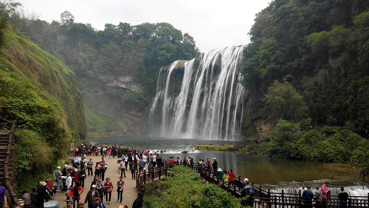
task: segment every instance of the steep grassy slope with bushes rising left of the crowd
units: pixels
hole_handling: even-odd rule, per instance
[[[84,139],[83,101],[74,73],[62,62],[15,27],[1,30],[0,115],[16,124],[18,190],[30,190],[70,142]]]

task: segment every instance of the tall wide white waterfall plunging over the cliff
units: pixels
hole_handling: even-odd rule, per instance
[[[161,137],[239,140],[244,48],[212,50],[162,67],[145,130]]]

